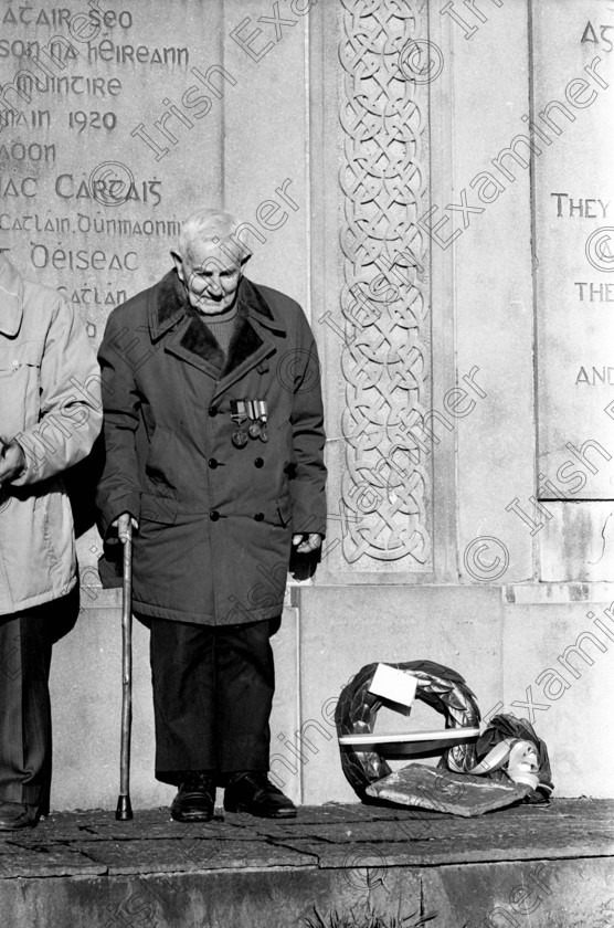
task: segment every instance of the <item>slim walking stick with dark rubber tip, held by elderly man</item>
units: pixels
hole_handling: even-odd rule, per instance
[[[119,797],[115,818],[133,818],[130,803],[130,735],[133,730],[133,523],[128,519],[124,542],[124,581],[121,584],[121,750]]]

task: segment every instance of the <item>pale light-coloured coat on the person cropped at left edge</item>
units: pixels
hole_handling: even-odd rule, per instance
[[[74,309],[0,254],[0,439],[17,439],[27,458],[21,476],[0,487],[0,615],[75,586],[61,474],[88,454],[100,425],[98,366]]]

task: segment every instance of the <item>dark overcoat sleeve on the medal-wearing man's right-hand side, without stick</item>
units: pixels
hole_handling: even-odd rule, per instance
[[[290,479],[294,532],[326,535],[324,405],[318,350],[299,310],[292,412],[294,478]],[[286,367],[287,370],[287,367]]]

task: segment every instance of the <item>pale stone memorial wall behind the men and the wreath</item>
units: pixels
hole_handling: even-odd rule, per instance
[[[106,20],[94,3],[0,3],[0,101],[23,114],[0,122],[0,247],[63,287],[97,342],[205,201],[253,226],[253,280],[306,308],[331,517],[277,636],[278,782],[305,802],[351,799],[340,687],[371,661],[430,658],[465,675],[483,715],[534,723],[559,794],[612,795],[608,4],[98,9]],[[7,94],[19,68],[40,78],[18,85],[30,102]],[[552,101],[573,117],[547,109],[554,129],[539,116]],[[84,610],[52,669],[56,808],[117,793],[118,599],[97,584],[98,549],[89,529]],[[138,806],[170,790],[152,780],[135,635]]]

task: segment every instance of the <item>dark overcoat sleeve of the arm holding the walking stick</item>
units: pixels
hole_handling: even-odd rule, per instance
[[[126,328],[112,313],[98,351],[100,363],[105,441],[105,465],[96,491],[100,534],[123,513],[140,517],[140,483],[136,432],[140,421],[140,397],[134,366],[123,350]]]

